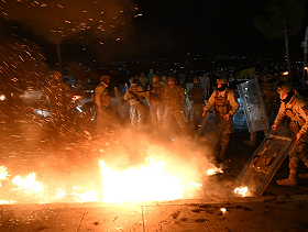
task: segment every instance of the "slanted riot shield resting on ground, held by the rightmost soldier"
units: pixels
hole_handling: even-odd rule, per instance
[[[263,140],[235,183],[261,196],[286,158],[294,140],[288,126],[279,126]]]

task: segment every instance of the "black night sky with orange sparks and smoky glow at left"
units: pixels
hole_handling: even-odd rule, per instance
[[[8,29],[14,40],[18,36],[33,40],[52,60],[57,59],[57,41],[61,41],[64,59],[96,59],[99,63],[184,57],[187,53],[285,54],[283,40],[270,41],[253,25],[253,19],[264,14],[266,0],[88,2],[91,3],[79,0],[1,1],[2,29]],[[127,10],[123,13],[121,9]],[[290,54],[302,54],[300,43],[308,25],[307,15],[305,22],[301,31],[289,38]],[[81,29],[80,25],[84,31],[74,31]],[[56,33],[51,33],[54,31],[67,36],[56,37]]]

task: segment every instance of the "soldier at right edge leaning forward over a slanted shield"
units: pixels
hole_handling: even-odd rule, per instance
[[[295,88],[285,84],[278,87],[280,108],[272,129],[275,131],[284,119],[287,119],[288,126],[293,132],[295,144],[289,151],[289,176],[276,183],[279,186],[297,186],[297,169],[299,158],[308,167],[307,156],[307,132],[308,132],[308,101],[305,97],[297,95]],[[308,174],[298,175],[300,178],[308,178]]]

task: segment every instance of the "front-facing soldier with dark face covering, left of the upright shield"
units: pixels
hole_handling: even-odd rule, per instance
[[[217,90],[215,90],[207,102],[202,117],[206,117],[207,112],[213,107],[216,112],[216,118],[218,123],[226,119],[226,128],[220,137],[220,144],[218,147],[219,159],[222,162],[224,159],[224,152],[228,146],[231,128],[232,128],[232,117],[239,110],[240,104],[237,101],[234,93],[231,89],[228,89],[229,81],[226,78],[217,79]]]

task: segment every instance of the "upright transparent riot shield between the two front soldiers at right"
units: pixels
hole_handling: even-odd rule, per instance
[[[248,80],[238,85],[239,95],[243,106],[250,132],[270,129],[270,120],[260,92],[257,79]]]

